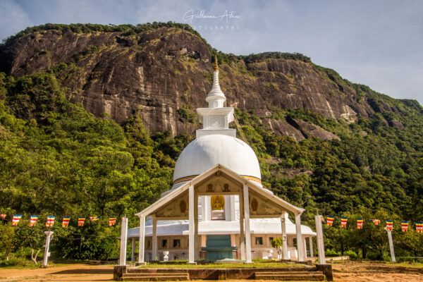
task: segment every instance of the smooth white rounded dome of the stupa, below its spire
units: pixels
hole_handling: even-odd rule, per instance
[[[222,164],[262,187],[259,160],[253,149],[238,138],[212,134],[197,137],[176,161],[173,186],[177,188],[216,164]]]

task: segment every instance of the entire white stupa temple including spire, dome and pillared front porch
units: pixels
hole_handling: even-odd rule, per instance
[[[224,107],[225,94],[215,67],[208,108],[197,109],[203,128],[180,154],[171,190],[136,215],[140,227],[128,231],[138,262],[164,259],[277,258],[273,238],[283,238],[283,259],[305,260],[308,226],[300,224],[304,209],[295,207],[262,186],[259,161],[252,148],[229,128],[233,108]],[[295,223],[288,219],[295,216]],[[296,247],[295,247],[296,246]]]

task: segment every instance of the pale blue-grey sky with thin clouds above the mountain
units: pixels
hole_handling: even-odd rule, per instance
[[[223,52],[299,52],[352,82],[423,104],[422,13],[418,0],[0,0],[0,39],[44,23],[172,20]]]

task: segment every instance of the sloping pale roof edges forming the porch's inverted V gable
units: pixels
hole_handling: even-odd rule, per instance
[[[228,176],[233,178],[234,180],[237,180],[239,183],[245,183],[248,185],[248,188],[251,190],[259,193],[259,195],[262,195],[263,197],[266,197],[266,199],[270,200],[271,202],[274,202],[275,204],[278,204],[283,209],[286,209],[288,212],[293,212],[294,214],[302,214],[302,212],[305,211],[305,209],[302,209],[300,207],[295,207],[293,204],[290,204],[284,200],[282,200],[280,197],[277,197],[271,192],[265,188],[261,188],[255,183],[253,183],[250,180],[247,180],[246,178],[243,178],[243,176],[240,176],[238,173],[235,173],[234,171],[231,171],[231,169],[227,168],[226,166],[223,166],[221,164],[216,164],[216,166],[210,168],[208,171],[204,171],[204,173],[200,174],[200,176],[197,176],[196,178],[190,180],[190,182],[187,182],[175,190],[169,192],[168,194],[164,195],[164,197],[161,197],[159,200],[151,204],[149,207],[143,209],[141,212],[138,212],[135,214],[136,216],[149,216],[153,212],[155,212],[160,207],[164,207],[169,202],[172,202],[173,199],[176,197],[182,195],[184,192],[188,191],[188,188],[190,185],[196,185],[197,183],[200,183],[202,180],[208,178],[209,176],[212,176],[217,171],[221,171],[223,173],[226,173]]]

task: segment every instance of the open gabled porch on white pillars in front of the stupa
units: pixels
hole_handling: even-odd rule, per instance
[[[239,218],[235,217],[235,197],[239,197]],[[199,200],[201,200],[201,213],[199,213]],[[175,190],[161,197],[147,209],[136,214],[140,216],[140,257],[139,262],[144,262],[145,243],[145,217],[152,216],[152,259],[157,259],[157,221],[159,220],[188,220],[188,261],[194,263],[199,260],[200,247],[203,251],[212,251],[210,259],[231,259],[231,252],[235,249],[235,233],[240,234],[240,259],[252,262],[250,218],[281,218],[281,237],[286,241],[285,214],[295,214],[295,225],[298,240],[298,259],[304,260],[303,241],[301,240],[300,216],[304,209],[295,207],[281,198],[274,196],[269,190],[259,187],[252,181],[231,171],[222,165],[216,165],[209,171],[181,185]],[[201,217],[200,217],[201,216]],[[224,233],[225,231],[199,231],[199,218],[202,221],[224,220],[239,222],[239,231]],[[238,222],[237,222],[238,221]],[[238,225],[238,224],[237,224]],[[238,228],[238,227],[237,227]],[[199,235],[226,235],[223,237],[207,237],[207,242],[202,240],[200,246]],[[229,237],[228,237],[229,236]],[[202,236],[203,238],[204,236]],[[227,240],[231,238],[231,242]],[[225,240],[223,240],[225,239]],[[216,242],[219,244],[216,245]],[[223,242],[225,241],[225,242]],[[233,241],[233,242],[232,242]],[[213,242],[213,243],[212,243]],[[204,244],[206,243],[206,244]],[[223,244],[224,243],[224,244]],[[236,244],[238,245],[238,244]],[[220,249],[219,249],[220,247]],[[228,249],[229,248],[229,249]],[[286,248],[286,247],[285,247]],[[284,249],[285,249],[284,248]],[[207,250],[208,249],[208,250]],[[231,251],[231,252],[230,252]],[[286,250],[283,250],[284,257]],[[231,254],[231,255],[230,255]],[[239,259],[239,258],[238,258]]]

